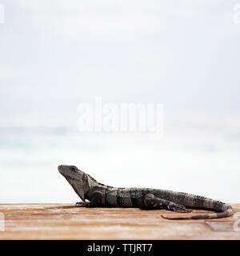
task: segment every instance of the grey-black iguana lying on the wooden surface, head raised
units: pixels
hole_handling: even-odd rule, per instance
[[[186,207],[217,211],[194,216],[192,214],[183,214],[183,217],[181,214],[180,216],[178,214],[162,216],[171,219],[223,218],[233,214],[233,209],[230,205],[210,198],[171,190],[106,186],[97,182],[89,174],[78,170],[76,166],[58,166],[58,170],[82,199],[82,202],[77,202],[76,206],[138,207],[166,209],[181,213],[190,212]],[[86,202],[86,199],[89,202]]]

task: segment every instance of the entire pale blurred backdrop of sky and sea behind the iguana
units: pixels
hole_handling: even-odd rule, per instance
[[[1,1],[0,201],[77,202],[57,170],[74,164],[112,186],[240,202],[238,3]],[[162,141],[80,134],[95,96],[163,103]]]

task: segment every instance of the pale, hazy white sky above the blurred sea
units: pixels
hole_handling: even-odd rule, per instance
[[[95,96],[239,110],[238,1],[0,3],[0,108],[10,123],[10,114],[67,115]]]

